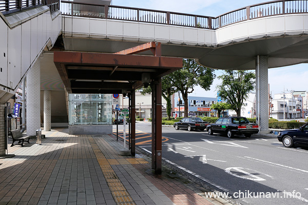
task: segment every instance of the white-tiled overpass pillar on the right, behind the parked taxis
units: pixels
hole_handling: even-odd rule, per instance
[[[267,56],[256,57],[256,113],[261,133],[268,132],[268,63]]]

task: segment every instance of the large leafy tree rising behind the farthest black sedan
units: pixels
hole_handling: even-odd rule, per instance
[[[188,116],[188,93],[194,91],[195,86],[209,90],[216,77],[214,69],[200,66],[194,59],[183,59],[183,68],[170,74],[171,80],[184,100],[184,117]]]

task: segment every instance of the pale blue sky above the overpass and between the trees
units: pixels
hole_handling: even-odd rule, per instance
[[[112,5],[127,6],[179,13],[197,14],[204,16],[219,16],[229,11],[242,7],[251,6],[268,1],[255,0],[112,0]],[[253,70],[252,70],[253,71]],[[216,71],[219,76],[223,71]],[[308,90],[308,64],[299,64],[288,67],[268,69],[269,92],[274,94],[285,91],[306,91]],[[209,91],[201,87],[195,87],[190,96],[216,97],[216,86],[220,84],[219,79],[214,79]]]

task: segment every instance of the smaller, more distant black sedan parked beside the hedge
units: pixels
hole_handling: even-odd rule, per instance
[[[203,121],[200,117],[184,117],[178,122],[175,122],[174,127],[176,130],[180,128],[187,129],[188,131],[192,130],[201,130],[203,131],[208,122]]]

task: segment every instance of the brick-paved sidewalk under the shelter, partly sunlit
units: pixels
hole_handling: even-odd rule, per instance
[[[205,198],[192,182],[154,175],[141,153],[118,155],[123,141],[111,135],[43,134],[43,145],[30,139],[0,159],[0,204],[230,204]]]

